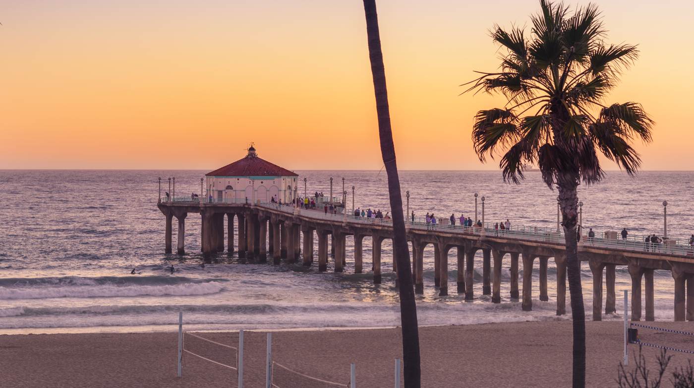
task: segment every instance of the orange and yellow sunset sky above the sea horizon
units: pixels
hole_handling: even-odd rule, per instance
[[[398,167],[498,169],[470,135],[500,99],[458,85],[539,2],[377,4]],[[694,169],[694,3],[599,4],[641,50],[607,102],[657,122],[643,169]],[[0,22],[0,169],[214,169],[248,142],[289,169],[382,166],[362,1],[6,0]]]

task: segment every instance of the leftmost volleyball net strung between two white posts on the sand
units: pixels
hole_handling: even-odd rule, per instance
[[[244,330],[239,330],[239,344],[232,346],[205,338],[201,332],[183,330],[183,312],[178,313],[178,377],[183,376],[184,355],[197,357],[235,372],[238,387],[244,387]]]

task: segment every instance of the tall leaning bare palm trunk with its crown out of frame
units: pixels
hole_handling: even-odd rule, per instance
[[[400,193],[400,178],[395,161],[395,146],[391,130],[388,108],[388,91],[386,73],[383,67],[381,38],[378,33],[378,15],[375,0],[364,0],[366,13],[366,35],[369,39],[369,59],[373,75],[373,90],[376,96],[376,113],[378,115],[378,137],[381,154],[388,176],[388,194],[393,212],[393,254],[398,263],[398,280],[400,282],[400,322],[403,330],[403,362],[405,363],[405,387],[420,387],[421,371],[419,360],[419,333],[417,327],[417,307],[414,303],[414,286],[409,263],[409,249],[405,235],[405,218],[403,217],[403,196]]]

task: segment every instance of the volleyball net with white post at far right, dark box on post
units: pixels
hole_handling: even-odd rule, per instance
[[[682,335],[694,337],[694,332],[687,332],[684,330],[673,330],[668,328],[660,328],[653,325],[644,325],[642,323],[634,323],[629,320],[629,292],[624,291],[624,364],[629,364],[629,344],[637,344],[638,346],[649,346],[651,348],[663,349],[666,351],[675,351],[680,353],[694,354],[692,349],[682,349],[675,346],[668,346],[663,344],[663,341],[671,340],[672,344],[681,344],[682,340],[679,338]],[[656,332],[657,337],[654,336],[652,340],[644,340],[641,338],[638,330],[649,330],[649,332]],[[643,332],[643,330],[641,330]]]

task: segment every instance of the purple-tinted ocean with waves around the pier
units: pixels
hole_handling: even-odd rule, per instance
[[[200,253],[200,217],[186,219],[186,254],[164,254],[164,216],[157,208],[176,177],[176,194],[199,192],[207,171],[164,170],[0,170],[0,334],[40,332],[151,332],[174,328],[178,312],[192,330],[289,329],[398,326],[398,294],[391,271],[391,244],[384,242],[381,285],[369,271],[371,239],[364,239],[364,269],[355,274],[353,244],[347,241],[344,273],[319,273],[298,264],[275,266],[239,261],[226,253],[205,263]],[[297,171],[298,189],[348,192],[355,206],[389,210],[384,171]],[[472,216],[474,193],[485,197],[486,221],[555,227],[557,192],[539,173],[521,185],[502,182],[499,171],[401,171],[417,215],[434,212]],[[636,177],[609,171],[599,185],[579,187],[584,229],[596,233],[627,228],[629,233],[663,234],[663,200],[668,201],[668,236],[694,233],[693,172],[644,171]],[[405,200],[403,200],[405,204]],[[482,212],[481,201],[478,208]],[[235,233],[237,235],[237,233]],[[176,223],[174,223],[174,245]],[[314,247],[317,252],[317,243]],[[175,251],[175,246],[174,246]],[[555,267],[550,260],[550,301],[539,301],[538,271],[533,311],[509,301],[509,262],[502,271],[502,303],[482,295],[482,258],[475,262],[475,301],[455,293],[455,249],[449,255],[450,296],[434,289],[434,253],[424,253],[424,294],[417,296],[421,325],[570,319],[555,316]],[[316,253],[317,257],[317,253]],[[507,256],[508,258],[508,256]],[[329,258],[329,262],[332,258]],[[205,263],[205,265],[203,265]],[[169,272],[171,265],[175,273]],[[536,261],[537,265],[537,261]],[[139,273],[131,275],[137,268]],[[586,316],[591,317],[591,273],[582,269]],[[630,289],[626,268],[617,269],[620,290]],[[657,320],[672,320],[673,281],[669,271],[655,273]],[[567,293],[568,295],[568,293]],[[570,307],[567,301],[567,308]],[[618,314],[604,319],[620,319]]]

